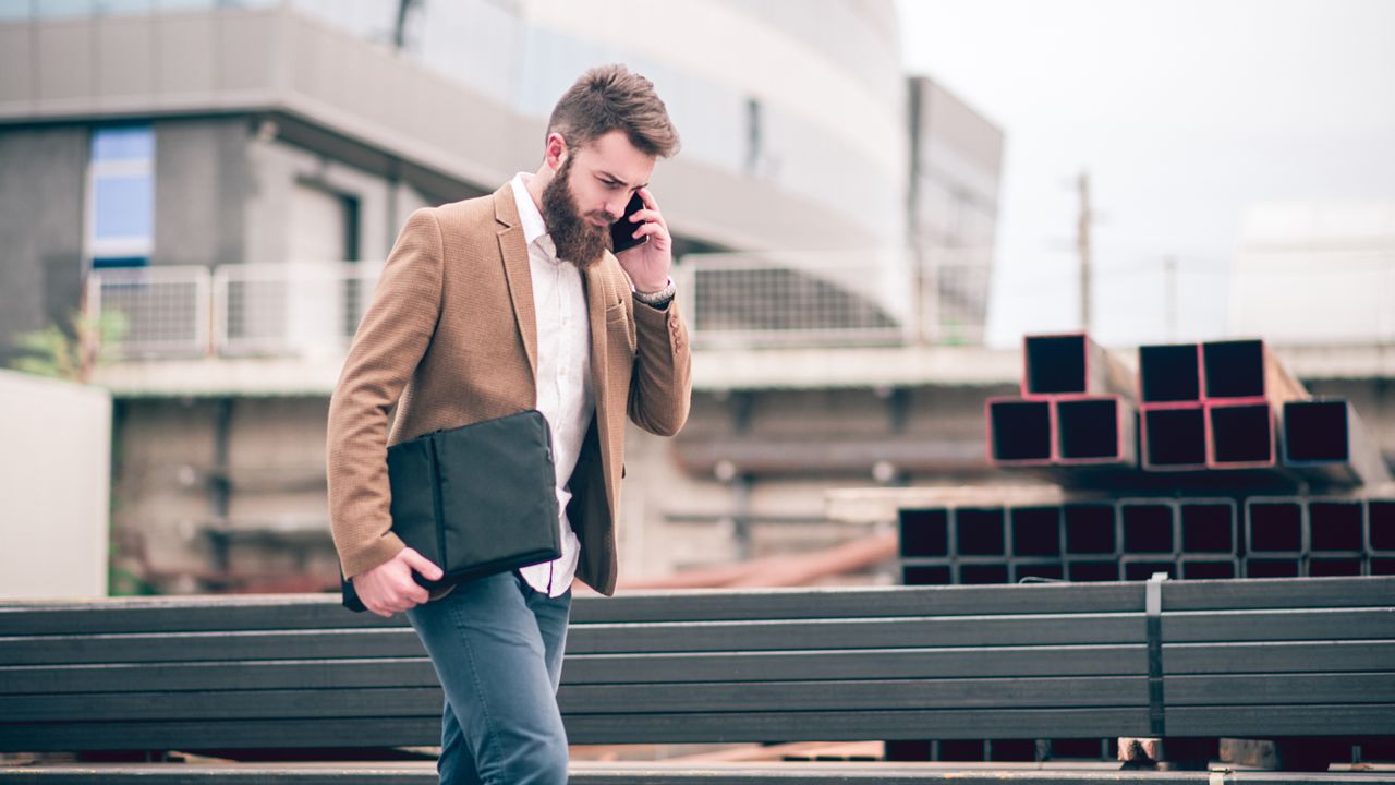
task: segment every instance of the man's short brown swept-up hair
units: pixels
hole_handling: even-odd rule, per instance
[[[619,64],[582,74],[547,122],[547,133],[562,134],[569,148],[611,131],[625,131],[629,144],[644,155],[671,158],[678,152],[678,129],[654,94],[654,82]]]

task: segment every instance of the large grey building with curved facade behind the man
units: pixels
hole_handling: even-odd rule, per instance
[[[968,465],[975,426],[943,412],[981,391],[869,374],[748,395],[730,372],[767,341],[936,337],[907,249],[990,244],[1002,133],[923,80],[908,108],[890,0],[644,8],[684,34],[633,36],[600,0],[0,6],[0,352],[84,299],[126,316],[99,376],[126,559],[165,591],[333,578],[325,408],[398,228],[534,168],[552,102],[605,61],[653,78],[684,134],[653,187],[707,346],[684,439],[631,434],[626,574],[757,552],[756,520],[817,542],[822,489],[873,465],[886,482]],[[975,270],[935,288],[957,320],[981,320]],[[883,432],[957,446],[889,462],[868,446]],[[831,441],[753,468],[748,436]]]

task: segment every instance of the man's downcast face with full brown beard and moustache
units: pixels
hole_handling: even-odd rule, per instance
[[[654,156],[640,152],[624,131],[569,152],[543,191],[543,221],[557,256],[582,270],[597,264],[610,247],[610,225],[653,170]]]

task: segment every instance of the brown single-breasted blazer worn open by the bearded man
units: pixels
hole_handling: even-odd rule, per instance
[[[571,478],[578,577],[615,591],[625,416],[672,436],[691,356],[678,306],[636,305],[610,253],[583,274],[596,415]],[[537,318],[512,187],[412,214],[329,401],[329,520],[346,578],[392,559],[391,444],[537,405]],[[396,405],[392,430],[388,412]]]

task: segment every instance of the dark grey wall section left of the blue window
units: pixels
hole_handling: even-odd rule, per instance
[[[0,129],[0,366],[78,305],[86,159],[86,129]]]

